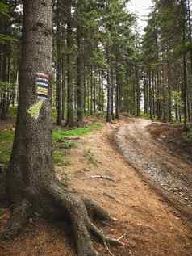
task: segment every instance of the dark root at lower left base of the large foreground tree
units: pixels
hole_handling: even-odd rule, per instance
[[[16,237],[27,224],[31,214],[31,204],[26,199],[13,207],[13,211],[6,224],[6,230],[0,233],[0,240],[7,240]]]

